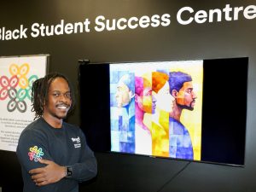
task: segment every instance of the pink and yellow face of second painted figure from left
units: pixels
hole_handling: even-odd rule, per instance
[[[137,105],[146,113],[154,113],[155,112],[155,98],[152,95],[152,88],[147,87],[145,88],[140,96],[137,96]]]

